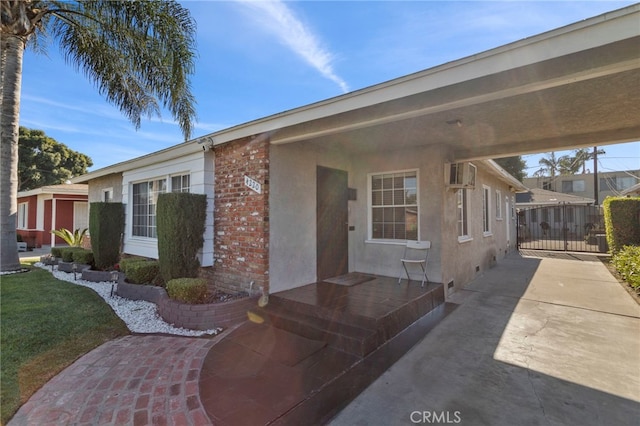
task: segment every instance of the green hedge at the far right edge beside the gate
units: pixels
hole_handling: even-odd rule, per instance
[[[607,197],[602,203],[607,243],[612,254],[640,245],[640,197]]]

